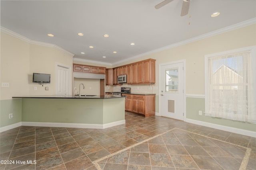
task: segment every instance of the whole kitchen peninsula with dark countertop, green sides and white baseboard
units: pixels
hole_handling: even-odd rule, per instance
[[[18,96],[22,126],[105,129],[125,123],[126,96]]]

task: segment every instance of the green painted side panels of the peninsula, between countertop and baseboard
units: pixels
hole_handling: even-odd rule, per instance
[[[104,124],[124,120],[124,111],[123,116],[119,115],[122,110],[124,110],[124,98],[22,99],[23,122]]]

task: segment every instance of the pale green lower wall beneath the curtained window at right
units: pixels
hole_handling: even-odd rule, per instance
[[[203,112],[202,115],[198,114],[199,110],[202,110]],[[246,123],[246,122],[232,121],[228,119],[220,119],[220,118],[205,116],[203,98],[186,98],[186,118],[194,119],[198,121],[204,121],[208,123],[214,123],[217,125],[234,127],[238,129],[244,129],[248,131],[256,131],[256,125],[254,123]]]

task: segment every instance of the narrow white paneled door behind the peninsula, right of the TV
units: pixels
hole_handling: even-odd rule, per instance
[[[57,95],[68,95],[68,72],[69,69],[62,66],[57,66]]]

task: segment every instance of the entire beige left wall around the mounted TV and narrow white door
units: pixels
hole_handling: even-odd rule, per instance
[[[70,67],[72,79],[73,56],[53,47],[35,45],[1,32],[1,83],[9,82],[9,88],[1,86],[1,100],[12,96],[55,94],[56,64]],[[33,72],[51,74],[51,83],[44,86],[32,83]],[[34,86],[37,90],[34,90]],[[45,90],[45,86],[49,90]],[[72,83],[70,83],[72,94]]]

